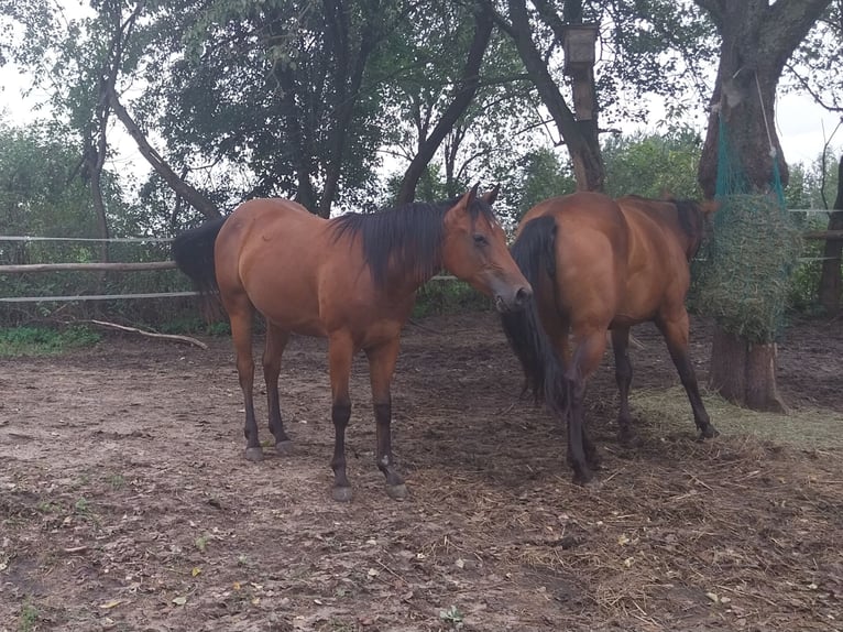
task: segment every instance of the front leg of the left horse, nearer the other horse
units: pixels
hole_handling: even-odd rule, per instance
[[[392,457],[392,395],[390,384],[395,371],[398,357],[398,337],[388,342],[366,349],[369,374],[372,382],[372,404],[376,427],[376,462],[386,477],[386,493],[390,498],[401,500],[407,495],[404,479],[395,471]]]

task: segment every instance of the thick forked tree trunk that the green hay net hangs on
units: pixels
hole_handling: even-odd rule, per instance
[[[720,66],[699,181],[707,197],[715,193],[768,194],[777,161],[782,186],[787,164],[775,127],[776,86],[785,63],[829,6],[830,0],[722,2],[696,0],[712,18],[721,36]],[[726,192],[718,192],[720,122],[729,132],[737,165]],[[743,172],[743,173],[741,173]],[[743,189],[743,190],[741,190]],[[740,274],[740,271],[735,271]],[[776,346],[751,345],[720,328],[711,352],[711,385],[730,400],[758,410],[784,410],[776,389]]]

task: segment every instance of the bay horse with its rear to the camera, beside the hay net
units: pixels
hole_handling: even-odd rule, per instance
[[[716,203],[574,193],[541,201],[522,219],[511,251],[534,291],[525,310],[502,314],[525,373],[524,391],[567,421],[576,482],[599,467],[583,419],[583,395],[611,331],[621,395],[621,440],[633,436],[629,328],[656,324],[679,372],[700,438],[716,436],[688,355],[689,262]]]

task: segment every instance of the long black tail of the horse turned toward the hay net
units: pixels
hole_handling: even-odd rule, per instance
[[[538,217],[524,225],[511,252],[522,274],[533,285],[534,295],[525,309],[502,314],[501,322],[524,369],[524,391],[533,391],[537,403],[544,401],[552,413],[565,415],[569,402],[565,367],[545,334],[536,307],[545,276],[556,276],[555,242],[556,220],[552,217]]]

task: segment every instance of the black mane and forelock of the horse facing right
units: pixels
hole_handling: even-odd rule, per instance
[[[333,241],[344,235],[360,236],[363,258],[377,287],[385,287],[391,271],[427,279],[441,266],[444,218],[462,196],[429,203],[410,203],[372,214],[348,213],[331,219]],[[480,215],[494,219],[492,207],[475,197],[469,208],[471,220]]]

